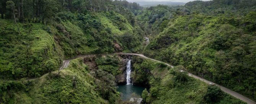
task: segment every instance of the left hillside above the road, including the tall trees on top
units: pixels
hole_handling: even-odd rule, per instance
[[[5,19],[0,20],[0,78],[39,77],[57,70],[62,59],[77,55],[140,51],[143,31],[122,2],[94,1],[94,7],[84,3],[88,1],[2,1],[0,8]],[[109,5],[103,8],[98,3]],[[42,9],[29,8],[31,5]],[[8,9],[14,9],[14,13]]]

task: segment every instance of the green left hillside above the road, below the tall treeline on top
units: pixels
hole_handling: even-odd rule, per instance
[[[18,23],[20,33],[14,21],[0,19],[2,79],[39,77],[77,55],[137,52],[143,42],[140,27],[114,11],[60,12],[55,18],[47,25]]]

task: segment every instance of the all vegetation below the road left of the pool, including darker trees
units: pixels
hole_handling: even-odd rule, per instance
[[[90,74],[83,59],[75,59],[58,75],[53,72],[29,81],[1,81],[4,104],[113,104],[119,99],[114,76],[96,70]],[[107,76],[106,78],[103,78]],[[111,83],[112,82],[112,83]],[[106,101],[108,100],[108,101]]]

